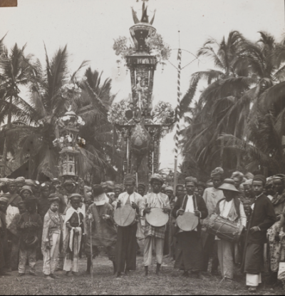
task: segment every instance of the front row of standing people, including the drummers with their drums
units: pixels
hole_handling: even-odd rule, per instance
[[[233,280],[234,264],[241,263],[241,270],[247,275],[247,286],[254,292],[264,271],[267,230],[275,225],[281,232],[284,209],[276,222],[274,203],[264,194],[267,184],[263,175],[253,176],[249,191],[252,198],[246,208],[246,187],[241,190],[240,175],[236,177],[224,179],[222,168],[216,168],[211,174],[212,185],[202,188],[201,193],[197,191],[197,179],[188,177],[185,185],[177,185],[177,197],[170,200],[167,194],[162,193],[164,180],[161,175],[152,175],[150,193],[141,193],[144,196],[136,192],[135,178],[127,175],[125,192],[120,190],[114,200],[106,195],[103,185],[93,185],[88,203],[80,193],[71,193],[65,215],[61,215],[59,210],[63,199],[52,193],[47,199],[48,210],[43,220],[37,211],[38,199],[28,196],[24,200],[25,210],[16,223],[16,231],[21,238],[19,277],[25,275],[27,260],[30,274],[35,275],[38,233],[41,233],[43,274],[47,280],[56,279],[60,257],[63,258],[66,275],[78,275],[78,260],[83,251],[87,256],[87,273],[92,272],[93,259],[101,247],[113,262],[114,274],[117,277],[123,272],[128,274],[136,269],[138,233],[143,233],[145,240],[145,275],[148,275],[152,264],[153,250],[157,261],[156,274],[160,275],[165,236],[169,237],[172,228],[170,240],[175,268],[182,270],[183,276],[188,277],[191,272],[202,279],[203,272],[208,270],[209,257],[212,257],[212,273],[217,272],[219,265],[223,279]],[[23,203],[15,203],[17,197],[14,195],[13,203],[11,196],[0,196],[0,273],[6,275],[3,265],[6,210],[8,205],[19,208]],[[215,245],[217,250],[213,252]],[[280,262],[281,255],[276,260]]]

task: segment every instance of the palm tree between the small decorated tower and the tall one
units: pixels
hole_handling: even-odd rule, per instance
[[[115,126],[108,122],[108,110],[113,103],[115,95],[110,91],[112,81],[110,78],[101,83],[103,73],[88,68],[79,86],[82,89],[80,102],[78,102],[78,115],[86,121],[81,128],[81,136],[86,139],[86,150],[98,155],[93,167],[93,175],[108,175],[115,177],[115,167],[120,168],[122,158],[116,152],[115,143],[118,139]],[[103,161],[104,160],[104,161]],[[103,167],[103,170],[102,170]]]

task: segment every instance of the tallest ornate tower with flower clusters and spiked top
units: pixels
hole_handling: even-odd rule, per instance
[[[157,63],[169,58],[170,49],[152,26],[155,16],[149,21],[145,2],[140,20],[132,11],[135,24],[130,27],[130,35],[133,44],[128,46],[128,39],[120,37],[113,47],[130,70],[132,93],[127,100],[113,104],[108,119],[119,134],[118,149],[123,154],[122,180],[130,173],[137,176],[138,183],[147,185],[150,175],[159,170],[160,140],[175,118],[170,103],[160,101],[152,108]]]

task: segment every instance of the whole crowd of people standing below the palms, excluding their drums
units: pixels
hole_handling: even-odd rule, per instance
[[[216,168],[207,183],[187,177],[175,195],[159,174],[151,176],[149,187],[132,175],[125,176],[123,185],[107,181],[91,186],[81,179],[39,183],[0,178],[0,275],[18,270],[23,277],[27,265],[29,274],[36,275],[36,261],[43,260],[46,280],[56,279],[57,270],[78,276],[83,253],[90,274],[93,259],[104,250],[116,277],[136,270],[137,255],[143,252],[146,276],[155,254],[157,275],[163,256],[169,255],[184,277],[191,273],[203,279],[211,272],[233,280],[237,266],[251,292],[261,283],[261,272],[278,280],[285,261],[285,175],[266,179],[234,172],[224,178],[224,170]],[[133,208],[135,218],[122,226],[114,215],[125,205]],[[146,216],[155,208],[169,215],[168,223],[150,224]],[[195,217],[189,231],[177,224],[185,213]],[[242,229],[239,240],[208,231],[217,217]]]

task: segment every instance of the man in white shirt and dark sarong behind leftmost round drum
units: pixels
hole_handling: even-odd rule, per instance
[[[135,178],[131,175],[126,176],[124,185],[127,191],[119,195],[118,203],[115,208],[130,205],[136,211],[137,215],[142,214],[144,203],[142,196],[135,192]],[[130,270],[136,270],[137,230],[137,220],[127,227],[118,226],[117,245],[115,250],[117,277],[120,277],[121,272],[128,274]]]

